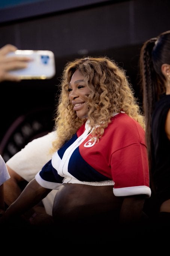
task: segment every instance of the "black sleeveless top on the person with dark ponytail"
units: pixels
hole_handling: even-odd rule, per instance
[[[163,94],[152,114],[152,178],[157,203],[170,198],[170,140],[165,132],[165,122],[170,109],[170,95]]]

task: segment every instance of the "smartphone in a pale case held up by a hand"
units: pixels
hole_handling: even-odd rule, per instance
[[[31,58],[25,69],[9,71],[20,79],[50,79],[55,75],[54,53],[49,50],[16,50],[8,56],[26,56]]]

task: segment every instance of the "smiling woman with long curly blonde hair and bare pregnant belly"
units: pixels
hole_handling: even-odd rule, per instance
[[[15,222],[58,189],[52,228],[60,239],[86,243],[98,241],[104,232],[108,242],[110,230],[116,233],[121,224],[135,224],[131,230],[141,232],[143,205],[151,195],[148,158],[143,116],[124,70],[107,57],[68,62],[55,126],[52,159],[1,221]]]

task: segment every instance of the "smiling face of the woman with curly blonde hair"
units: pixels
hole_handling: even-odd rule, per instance
[[[85,86],[84,76],[76,70],[69,84],[69,101],[79,118],[87,116],[88,107],[85,96],[88,96],[89,92],[89,88]]]

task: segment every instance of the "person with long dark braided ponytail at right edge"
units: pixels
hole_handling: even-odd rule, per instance
[[[170,30],[143,44],[140,77],[152,191],[151,216],[157,219],[156,226],[159,222],[163,228],[170,224]]]

